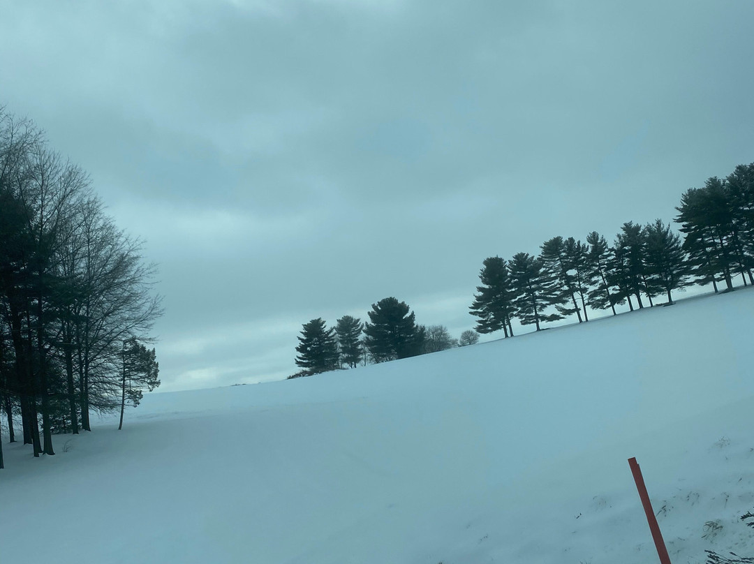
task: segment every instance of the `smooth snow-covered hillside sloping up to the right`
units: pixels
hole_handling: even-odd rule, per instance
[[[674,564],[754,556],[754,292],[311,378],[150,394],[32,458],[4,562]],[[4,435],[7,440],[7,434]]]

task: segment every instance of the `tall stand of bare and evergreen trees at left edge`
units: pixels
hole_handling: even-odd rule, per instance
[[[0,108],[0,410],[11,442],[20,418],[34,455],[54,455],[53,434],[90,431],[92,410],[122,410],[159,385],[143,345],[161,314],[154,274],[84,171]]]

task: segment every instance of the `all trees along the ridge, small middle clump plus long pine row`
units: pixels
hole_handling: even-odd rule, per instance
[[[584,243],[553,237],[538,255],[485,259],[470,306],[476,333],[464,331],[459,341],[444,326],[416,325],[409,306],[392,297],[372,304],[366,323],[347,315],[328,329],[321,318],[311,320],[299,336],[302,370],[293,377],[470,345],[477,333],[513,336],[513,320],[541,330],[569,316],[588,321],[589,311],[651,307],[660,297],[671,305],[673,292],[692,284],[712,284],[716,293],[733,290],[737,277],[754,285],[754,163],[688,189],[676,210],[680,233],[661,219],[626,222],[612,244],[592,231]]]

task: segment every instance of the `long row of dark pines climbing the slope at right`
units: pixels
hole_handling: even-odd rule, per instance
[[[616,305],[633,311],[634,302],[653,306],[657,296],[670,305],[673,290],[711,283],[718,292],[723,281],[733,290],[738,275],[744,286],[754,284],[754,163],[689,189],[676,210],[683,239],[661,219],[626,222],[612,246],[592,231],[586,243],[551,238],[538,256],[485,259],[470,306],[477,332],[513,336],[512,319],[536,330],[572,315],[581,323],[589,320],[587,306],[615,315]]]

